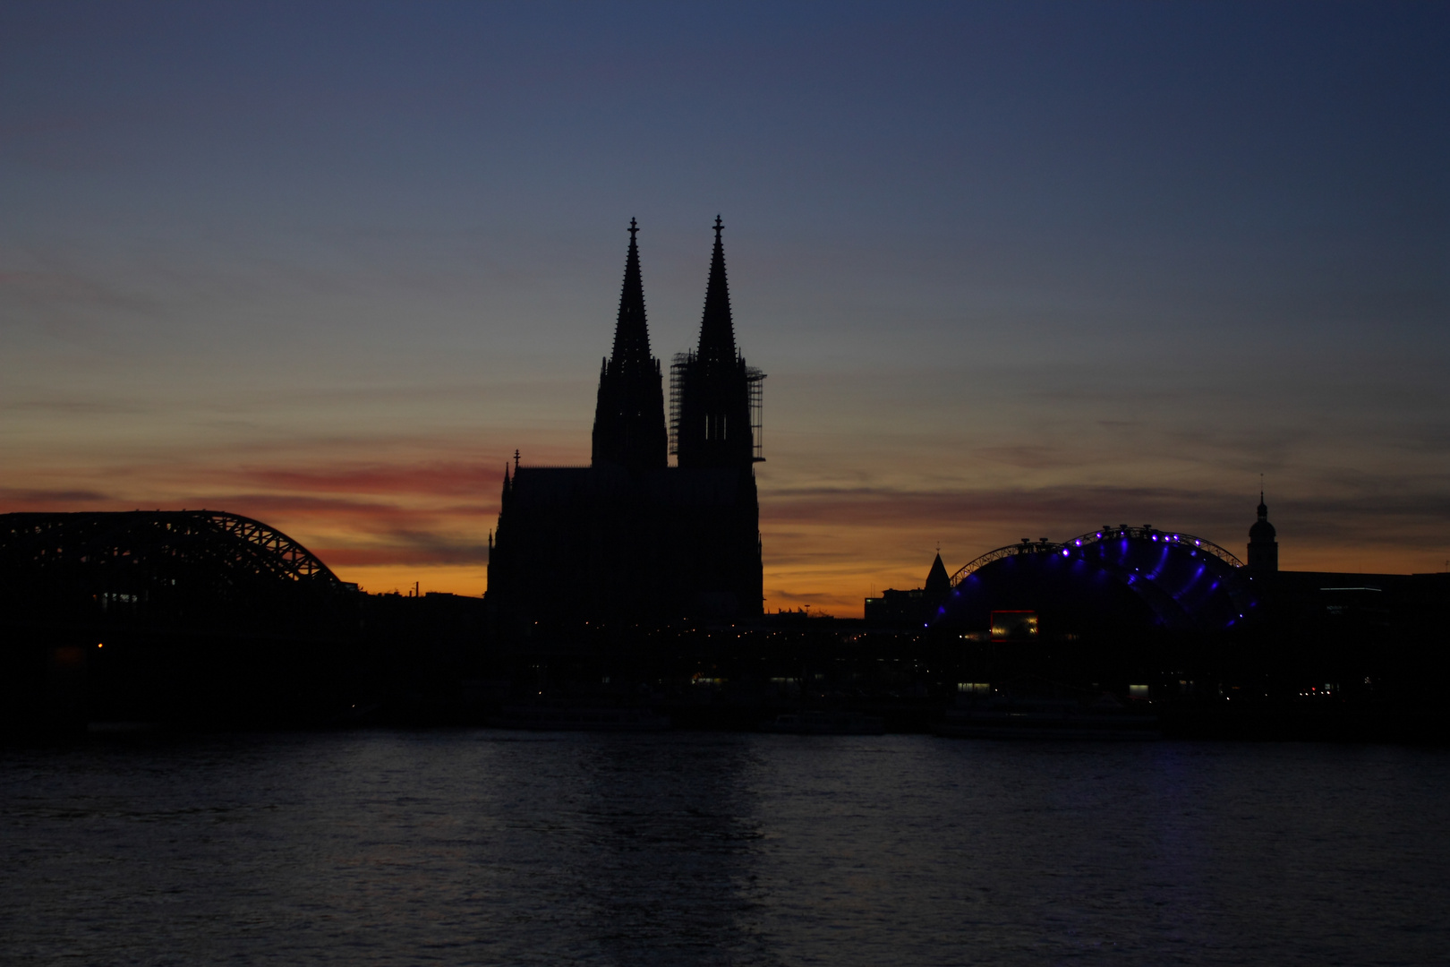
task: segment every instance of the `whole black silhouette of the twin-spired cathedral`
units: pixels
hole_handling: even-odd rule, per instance
[[[764,374],[735,348],[724,228],[716,217],[699,346],[670,367],[667,425],[663,371],[650,355],[638,226],[629,220],[590,465],[526,467],[515,454],[512,471],[505,468],[487,593],[503,634],[760,616],[754,464]]]

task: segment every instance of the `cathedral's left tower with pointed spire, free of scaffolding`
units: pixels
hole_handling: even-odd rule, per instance
[[[615,345],[599,371],[593,464],[612,462],[634,474],[663,470],[668,455],[660,361],[650,355],[639,278],[639,228],[629,219],[629,254],[619,293]]]

